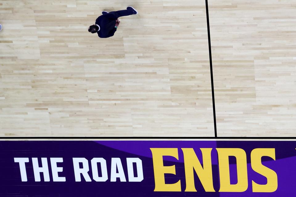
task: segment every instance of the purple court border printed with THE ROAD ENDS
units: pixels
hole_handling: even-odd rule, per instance
[[[296,141],[0,141],[0,196],[295,196]]]

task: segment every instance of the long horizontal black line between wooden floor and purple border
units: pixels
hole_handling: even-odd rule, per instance
[[[296,137],[0,137],[0,139],[295,139]]]

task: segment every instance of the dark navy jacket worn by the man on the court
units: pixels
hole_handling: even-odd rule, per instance
[[[116,24],[116,16],[114,14],[104,14],[97,18],[96,25],[100,26],[100,31],[98,31],[98,35],[100,38],[109,38],[114,35]]]

